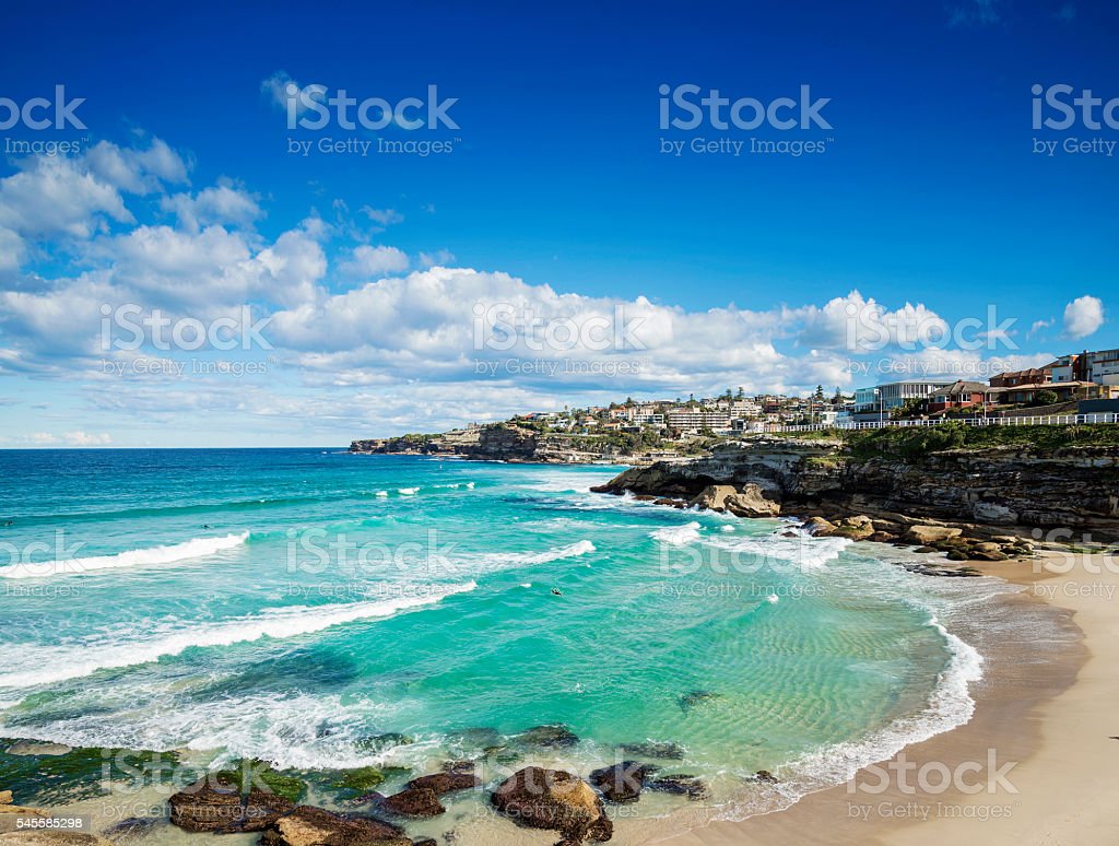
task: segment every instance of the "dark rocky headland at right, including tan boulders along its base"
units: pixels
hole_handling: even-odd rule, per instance
[[[896,432],[759,435],[687,462],[631,468],[593,490],[741,517],[797,516],[816,535],[961,554],[1008,556],[1025,549],[1022,538],[1113,542],[1119,446],[1070,440],[941,446]]]

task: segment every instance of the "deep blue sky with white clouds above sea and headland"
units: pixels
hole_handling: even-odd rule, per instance
[[[63,4],[7,22],[0,98],[63,84],[86,129],[0,130],[0,446],[335,444],[1119,346],[1119,131],[1031,122],[1035,83],[1119,96],[1111,3]],[[393,103],[435,85],[459,129],[289,130],[289,81]],[[831,129],[662,130],[662,84],[763,103],[808,85]],[[453,149],[289,152],[323,138]],[[697,138],[826,149],[660,151]],[[270,348],[105,348],[102,307],[126,303],[206,325],[247,306]],[[579,326],[621,310],[641,338],[498,349],[479,303]],[[890,341],[853,348],[848,307]],[[904,342],[990,307],[1013,322],[981,350]],[[153,377],[156,360],[185,369]]]

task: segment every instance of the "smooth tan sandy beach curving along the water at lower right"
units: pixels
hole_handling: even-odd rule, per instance
[[[984,680],[974,690],[974,718],[952,732],[906,748],[893,759],[925,772],[903,789],[896,770],[888,787],[878,772],[861,771],[845,786],[806,797],[792,808],[742,822],[715,822],[674,846],[726,844],[1061,844],[1119,843],[1113,779],[1119,764],[1119,676],[1115,673],[1119,615],[1116,563],[1102,556],[1050,553],[1035,562],[981,567],[1023,585],[1009,598],[1012,613],[1046,603],[1074,636],[1069,642],[1006,643],[987,656]],[[1033,608],[1032,608],[1033,607]],[[995,767],[988,768],[989,755]],[[963,790],[935,789],[940,773],[975,774]],[[988,778],[1003,770],[1004,781]],[[977,769],[979,768],[979,769]],[[968,786],[978,783],[972,792]],[[988,784],[990,788],[988,789]],[[1016,792],[1015,792],[1016,791]]]

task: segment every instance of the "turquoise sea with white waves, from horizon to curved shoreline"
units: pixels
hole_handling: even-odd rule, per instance
[[[0,452],[0,736],[493,779],[674,744],[741,817],[969,718],[1000,583],[589,491],[620,469]],[[579,742],[509,752],[542,724]]]

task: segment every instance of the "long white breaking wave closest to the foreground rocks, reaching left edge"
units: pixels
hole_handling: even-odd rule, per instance
[[[266,609],[258,614],[201,623],[189,629],[156,624],[153,630],[145,632],[147,637],[135,638],[133,632],[123,642],[116,637],[102,637],[65,647],[21,645],[12,650],[18,656],[19,666],[11,671],[0,673],[0,688],[34,687],[81,678],[101,669],[157,661],[180,655],[191,647],[231,646],[265,637],[283,639],[309,634],[342,623],[392,617],[399,611],[430,605],[454,593],[472,591],[477,586],[474,582],[467,582],[439,591],[424,591],[415,596],[314,608],[292,605]]]

